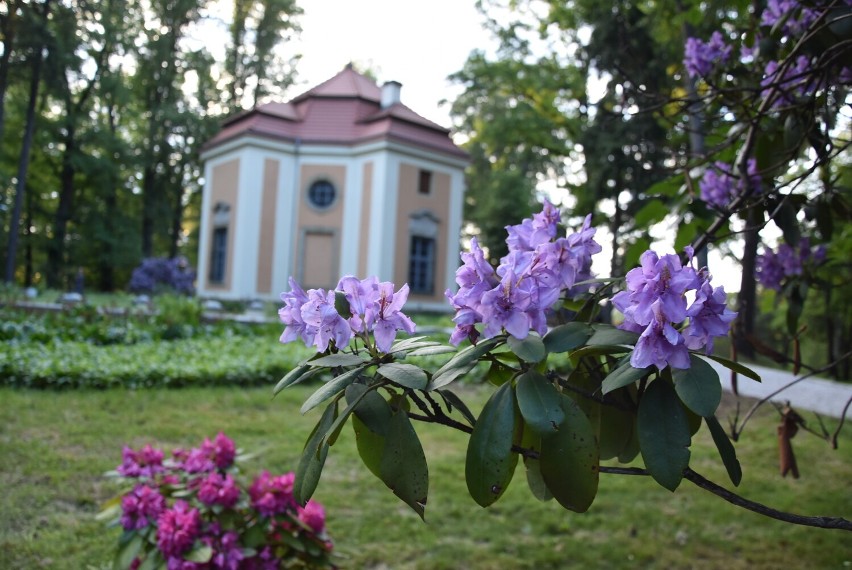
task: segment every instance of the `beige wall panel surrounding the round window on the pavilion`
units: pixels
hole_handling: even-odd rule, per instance
[[[334,203],[317,209],[308,201],[308,188],[317,180],[328,180],[336,190]],[[334,287],[340,278],[340,235],[346,201],[346,167],[303,164],[299,176],[299,228],[295,243],[296,275],[303,287]],[[313,238],[313,239],[312,239]],[[310,243],[308,243],[310,242]],[[320,279],[327,282],[311,282]]]

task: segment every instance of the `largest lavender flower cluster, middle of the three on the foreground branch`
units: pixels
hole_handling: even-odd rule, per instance
[[[450,341],[476,342],[506,331],[518,339],[530,330],[544,334],[547,314],[563,291],[591,278],[592,255],[601,251],[587,216],[579,232],[557,237],[559,210],[545,201],[532,219],[508,226],[509,253],[495,270],[474,238],[456,271],[459,290],[446,296],[455,309]],[[482,331],[477,324],[484,324]]]

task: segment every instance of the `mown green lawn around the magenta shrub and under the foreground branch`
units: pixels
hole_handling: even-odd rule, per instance
[[[258,451],[246,466],[295,468],[318,413],[298,408],[311,387],[272,399],[268,387],[44,392],[0,389],[0,568],[99,568],[117,540],[94,520],[114,489],[102,473],[121,447],[192,446],[220,430]],[[464,388],[478,409],[487,393]],[[811,515],[852,515],[852,432],[840,448],[801,434],[799,480],[777,474],[775,423],[763,410],[737,444],[738,492]],[[602,475],[591,510],[579,515],[530,495],[522,471],[501,500],[481,509],[467,495],[466,437],[417,425],[430,466],[426,523],[360,463],[349,429],[332,448],[315,498],[345,568],[843,568],[842,531],[796,527],[736,508],[688,482],[674,494],[644,477]],[[724,470],[699,432],[693,468],[720,483]],[[730,486],[729,484],[726,486]]]

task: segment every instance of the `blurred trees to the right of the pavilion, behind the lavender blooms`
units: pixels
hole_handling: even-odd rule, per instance
[[[794,368],[807,353],[848,377],[848,3],[479,0],[478,6],[499,48],[472,53],[453,76],[464,92],[452,111],[473,159],[468,229],[492,261],[505,253],[503,228],[530,213],[536,189],[563,197],[575,220],[594,212],[593,224],[607,230],[614,277],[635,267],[655,240],[681,251],[705,234],[696,248],[699,265],[707,264],[709,246],[741,269],[735,348]],[[806,16],[808,25],[792,33]],[[727,54],[729,71],[712,78],[688,73],[685,44],[714,32],[743,50]],[[799,75],[773,80],[768,67],[761,75],[759,64],[776,59],[776,69]],[[786,104],[776,105],[781,98]],[[760,191],[750,188],[749,199],[730,204],[702,199],[702,176],[724,174],[717,161],[733,165],[731,177],[743,181],[751,175],[738,165],[755,161]],[[760,255],[777,243],[820,244],[827,262],[790,276],[777,291],[761,288]],[[714,269],[721,270],[711,264]],[[838,360],[845,364],[836,366]]]

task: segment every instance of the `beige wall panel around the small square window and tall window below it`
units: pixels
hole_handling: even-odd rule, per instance
[[[408,261],[411,235],[408,223],[411,214],[428,211],[438,218],[438,235],[435,238],[435,291],[432,295],[414,295],[416,301],[444,300],[443,284],[446,275],[447,243],[446,229],[450,218],[450,177],[441,172],[432,171],[432,191],[421,194],[418,191],[420,168],[412,164],[400,164],[399,199],[396,215],[396,253],[394,255],[394,283],[399,287],[408,281]]]

